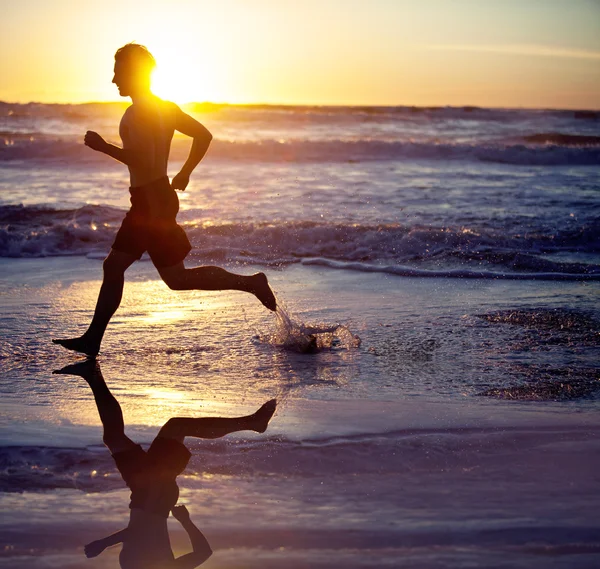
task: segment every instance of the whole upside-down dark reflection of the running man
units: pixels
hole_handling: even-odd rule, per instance
[[[131,489],[127,528],[86,545],[86,556],[96,557],[107,547],[122,543],[119,561],[123,569],[181,569],[204,563],[212,554],[210,546],[190,520],[186,507],[175,505],[179,498],[176,478],[191,456],[183,444],[184,438],[217,439],[237,431],[264,433],[275,412],[275,400],[268,401],[256,413],[246,417],[169,419],[148,451],[144,451],[125,435],[121,406],[104,382],[97,362],[88,360],[55,373],[83,377],[92,388],[104,427],[104,444]],[[169,512],[179,520],[193,548],[192,553],[177,559],[169,542]]]

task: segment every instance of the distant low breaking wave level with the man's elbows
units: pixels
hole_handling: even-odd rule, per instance
[[[531,135],[533,137],[549,135]],[[221,160],[244,160],[253,162],[361,162],[402,160],[468,160],[534,166],[587,166],[600,163],[599,137],[569,135],[558,143],[554,139],[539,144],[536,138],[531,144],[500,143],[448,143],[385,140],[214,140],[210,158]],[[0,144],[0,162],[41,160],[78,163],[100,163],[104,156],[86,148],[81,137],[51,138],[39,134],[4,135]],[[553,142],[554,140],[554,142]],[[579,140],[579,143],[574,142]],[[588,140],[588,142],[581,142]],[[535,144],[534,144],[535,143]],[[173,141],[171,157],[184,160],[189,151],[187,141]]]

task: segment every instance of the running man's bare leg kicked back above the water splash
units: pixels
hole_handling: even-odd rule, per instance
[[[186,269],[183,261],[171,267],[157,269],[170,289],[240,290],[256,296],[269,310],[277,309],[277,300],[264,273],[245,276],[213,266]]]

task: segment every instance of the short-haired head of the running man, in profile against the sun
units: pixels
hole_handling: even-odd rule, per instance
[[[115,53],[113,83],[122,97],[131,97],[150,90],[150,76],[156,66],[152,54],[137,43],[128,43]]]

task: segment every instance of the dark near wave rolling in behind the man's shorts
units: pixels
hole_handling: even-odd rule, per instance
[[[595,280],[600,265],[552,259],[552,253],[596,254],[600,228],[523,236],[463,227],[327,222],[215,223],[181,218],[200,262],[330,268],[402,276]],[[110,249],[124,211],[86,205],[55,210],[0,206],[0,257],[86,255]],[[186,220],[187,218],[187,220]]]

